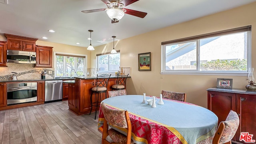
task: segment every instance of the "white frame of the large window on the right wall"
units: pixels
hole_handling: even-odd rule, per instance
[[[236,34],[239,32],[247,32],[247,70],[252,67],[252,33],[251,26],[222,30],[198,36],[180,38],[162,42],[161,44],[161,74],[176,74],[176,75],[222,75],[222,76],[247,76],[247,71],[200,71],[200,39],[210,38],[214,36],[224,36],[228,34]],[[196,70],[166,70],[166,45],[180,44],[184,42],[196,41]]]

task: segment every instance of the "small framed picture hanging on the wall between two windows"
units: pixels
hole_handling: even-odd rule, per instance
[[[151,71],[151,52],[138,54],[139,71]]]

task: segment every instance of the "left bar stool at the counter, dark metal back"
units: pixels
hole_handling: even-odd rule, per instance
[[[104,75],[104,76],[98,76],[96,79],[96,86],[92,88],[92,94],[91,94],[91,110],[90,114],[92,112],[92,106],[95,107],[95,117],[94,120],[96,120],[97,110],[98,107],[100,107],[100,102],[107,98],[107,86],[108,86],[108,80],[110,78],[110,75]],[[94,102],[92,102],[92,97],[94,95]],[[105,96],[105,97],[104,97]],[[104,97],[104,98],[103,98]]]

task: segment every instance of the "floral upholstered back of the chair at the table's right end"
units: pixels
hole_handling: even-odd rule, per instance
[[[226,121],[223,122],[225,124],[225,128],[220,138],[220,144],[229,142],[234,137],[236,130],[238,129],[239,122],[240,121],[237,113],[230,110]]]

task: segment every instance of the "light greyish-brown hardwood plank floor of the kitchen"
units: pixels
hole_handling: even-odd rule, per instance
[[[101,144],[97,122],[68,110],[68,101],[0,110],[0,144]]]

